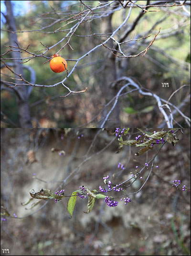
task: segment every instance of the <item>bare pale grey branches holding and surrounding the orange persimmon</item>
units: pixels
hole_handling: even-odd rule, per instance
[[[12,48],[17,48],[17,49],[20,49],[21,51],[19,52],[26,52],[27,54],[30,54],[32,55],[31,57],[25,57],[25,58],[19,58],[19,59],[28,59],[26,61],[23,61],[23,62],[20,62],[20,63],[26,63],[28,61],[30,61],[32,58],[36,58],[36,57],[40,57],[40,58],[47,58],[47,59],[50,59],[50,57],[46,57],[45,54],[51,50],[53,47],[55,47],[56,45],[62,43],[65,39],[68,38],[67,42],[64,44],[64,46],[62,46],[57,52],[56,54],[58,54],[59,52],[61,52],[64,47],[66,47],[67,45],[73,50],[72,46],[70,45],[70,40],[72,38],[72,36],[75,35],[75,31],[77,30],[77,28],[80,26],[80,24],[84,23],[84,22],[87,22],[90,18],[91,20],[93,19],[97,19],[97,18],[101,18],[102,16],[107,16],[111,13],[114,13],[115,11],[118,11],[120,9],[123,9],[123,8],[129,8],[129,12],[128,12],[128,15],[127,15],[127,18],[124,20],[123,23],[121,23],[119,25],[119,27],[113,32],[111,33],[110,36],[108,36],[107,40],[103,43],[101,43],[100,45],[97,45],[96,47],[94,47],[93,49],[91,49],[90,51],[88,51],[87,53],[85,53],[85,55],[83,55],[82,57],[78,58],[78,59],[66,59],[66,60],[69,60],[69,61],[76,61],[76,64],[74,65],[73,69],[71,70],[71,72],[66,76],[66,78],[63,80],[63,81],[60,81],[59,83],[56,83],[56,84],[53,84],[53,85],[49,85],[47,87],[54,87],[54,86],[57,86],[59,84],[63,84],[64,81],[74,72],[74,70],[76,69],[77,67],[77,64],[78,62],[85,58],[86,56],[88,56],[90,53],[94,52],[98,47],[101,47],[101,46],[105,46],[106,47],[106,43],[108,40],[114,40],[116,42],[116,47],[114,47],[115,51],[117,51],[117,47],[120,46],[120,44],[126,44],[128,43],[129,41],[131,40],[136,40],[137,39],[130,39],[130,40],[127,40],[127,41],[124,41],[125,38],[127,38],[127,35],[130,33],[130,31],[132,31],[134,29],[134,27],[136,26],[136,24],[138,23],[138,20],[136,20],[136,23],[132,25],[132,28],[126,33],[126,35],[123,36],[123,38],[120,38],[119,41],[117,41],[113,36],[123,27],[123,25],[125,23],[127,23],[127,20],[129,19],[129,16],[130,16],[130,13],[131,13],[131,10],[133,7],[138,7],[138,8],[141,8],[142,10],[144,10],[144,12],[149,12],[148,10],[146,9],[149,9],[150,7],[174,7],[174,6],[186,6],[188,5],[188,3],[183,3],[183,4],[177,4],[177,3],[174,3],[172,5],[168,5],[168,4],[162,4],[160,1],[159,1],[159,4],[149,4],[149,5],[138,5],[137,3],[134,3],[133,1],[126,1],[125,3],[125,6],[122,4],[121,6],[118,6],[118,4],[116,5],[116,1],[111,1],[111,2],[106,2],[106,3],[99,3],[96,7],[92,8],[90,7],[90,5],[86,5],[83,1],[80,1],[80,3],[82,4],[82,10],[79,12],[79,13],[76,13],[74,14],[73,16],[69,15],[69,17],[67,19],[63,18],[63,19],[57,19],[56,21],[54,21],[53,23],[47,25],[47,26],[43,26],[41,29],[37,29],[37,30],[31,30],[31,31],[8,31],[8,32],[12,32],[12,33],[24,33],[24,32],[40,32],[40,33],[51,33],[51,32],[44,32],[43,30],[46,29],[46,28],[49,28],[49,27],[52,27],[55,23],[63,23],[63,22],[70,22],[72,20],[72,22],[76,22],[74,24],[73,27],[70,28],[69,32],[67,32],[67,35],[65,35],[59,42],[57,42],[56,44],[54,44],[53,46],[45,46],[44,44],[42,44],[42,42],[40,42],[40,44],[42,44],[43,46],[46,47],[45,51],[42,53],[42,54],[35,54],[35,53],[32,53],[30,51],[28,51],[28,48],[30,45],[28,45],[26,48],[23,48],[23,47],[20,47],[17,43],[17,47],[15,46],[5,46],[5,47],[10,47],[10,50],[8,50],[7,52],[5,52],[4,54],[1,55],[1,59],[17,59],[17,58],[4,58],[3,56],[5,56],[8,52],[10,51],[15,51],[13,50]],[[112,10],[106,10],[105,13],[103,14],[102,11],[99,12],[99,9],[102,9],[102,8],[106,8],[108,6],[113,6],[113,9]],[[85,9],[86,8],[86,9]],[[153,12],[153,11],[152,11]],[[61,12],[63,14],[63,12]],[[60,13],[60,14],[61,14]],[[42,14],[42,17],[43,16],[46,16],[47,14],[55,14],[55,11],[53,13],[51,12],[47,12],[47,13],[44,13]],[[56,13],[57,15],[59,15],[59,13]],[[66,12],[65,14],[66,16],[68,15],[68,13]],[[140,19],[140,17],[139,17]],[[67,24],[69,23],[66,23],[64,26],[66,26]],[[7,30],[4,30],[4,31],[7,31]],[[53,30],[52,33],[56,33],[56,32],[65,32],[63,30],[61,30],[61,27],[56,29],[56,30]],[[158,33],[159,34],[159,33]],[[157,35],[158,35],[157,34]],[[102,34],[100,34],[102,35]],[[104,34],[105,35],[105,34]],[[146,49],[140,53],[138,53],[137,55],[133,55],[133,56],[126,56],[120,49],[119,53],[121,53],[123,56],[117,56],[114,52],[113,54],[116,55],[117,57],[120,57],[120,58],[132,58],[132,57],[138,57],[141,53],[144,53],[144,55],[147,53],[149,47],[152,45],[152,43],[154,42],[156,36],[154,37],[153,41],[150,42],[149,46],[146,47]],[[85,35],[85,36],[89,36],[89,35]],[[90,36],[96,36],[96,34],[92,34]],[[142,37],[141,39],[143,38],[147,38],[149,36],[145,36],[145,37]],[[140,39],[139,39],[140,40]],[[113,49],[113,50],[114,50]],[[21,84],[15,84],[14,86],[20,86]],[[22,85],[26,85],[26,84],[22,84]],[[45,85],[40,85],[40,84],[30,84],[30,83],[27,83],[27,85],[31,85],[31,86],[37,86],[37,87],[46,87]],[[67,87],[65,87],[67,89]],[[84,91],[84,90],[83,90]],[[68,93],[70,94],[70,93]],[[67,94],[67,95],[68,95]],[[66,96],[67,96],[66,95]]]

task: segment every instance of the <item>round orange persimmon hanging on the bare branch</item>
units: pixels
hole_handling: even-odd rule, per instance
[[[51,57],[52,57],[52,59],[50,61],[51,70],[53,70],[55,73],[60,73],[60,72],[63,72],[64,70],[66,70],[67,62],[64,58],[62,58],[58,54],[53,54],[53,56],[51,56]]]

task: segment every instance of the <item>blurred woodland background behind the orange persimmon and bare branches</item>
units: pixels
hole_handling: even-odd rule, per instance
[[[1,13],[1,60],[7,65],[10,62],[23,62],[19,65],[21,69],[24,68],[23,76],[26,81],[45,86],[60,83],[66,77],[66,72],[54,73],[49,67],[49,62],[43,62],[50,60],[50,56],[59,51],[67,60],[67,69],[70,72],[78,58],[100,42],[103,43],[124,22],[129,7],[124,8],[122,5],[127,2],[130,1],[11,1],[18,31],[15,34],[7,27],[6,7],[4,1],[1,1],[1,10],[4,13]],[[164,6],[166,2],[170,7]],[[190,117],[190,1],[185,2],[186,6],[173,6],[181,4],[182,1],[137,1],[138,5],[162,6],[148,8],[145,13],[138,6],[132,8],[127,23],[114,36],[115,40],[123,39],[121,42],[126,42],[132,38],[140,39],[151,35],[146,39],[122,44],[121,49],[129,56],[137,55],[146,49],[161,28],[159,35],[144,57],[140,55],[136,58],[117,58],[111,54],[111,50],[102,46],[82,58],[64,84],[74,91],[82,91],[87,87],[85,93],[60,97],[69,93],[61,83],[49,88],[9,88],[9,85],[13,84],[8,82],[14,82],[14,74],[1,62],[1,127],[100,127],[100,123],[114,104],[119,88],[124,85],[121,81],[116,88],[112,88],[111,84],[122,76],[131,77],[140,87],[143,86],[166,101],[173,92],[185,85],[173,95],[170,103]],[[71,27],[84,18],[87,11],[80,16],[82,10],[90,11],[104,3],[112,4],[90,12],[85,22],[80,23],[74,31],[74,35],[70,33],[70,36],[66,36]],[[19,60],[12,59],[13,51],[5,54],[11,49],[5,46],[10,46],[9,38],[13,35],[17,36],[17,42],[22,49],[26,49],[30,44],[27,49],[29,53],[19,49]],[[65,45],[68,39],[69,44]],[[109,42],[107,47],[117,49],[116,42]],[[17,47],[14,40],[13,44]],[[12,66],[10,68],[12,69]],[[162,87],[162,83],[169,83],[169,87]],[[130,87],[130,90],[133,89],[135,88]],[[27,125],[22,125],[19,121],[19,90],[26,90],[28,95],[24,100],[26,106],[21,107],[21,112],[29,107]],[[173,111],[174,108],[169,106]],[[169,110],[166,111],[170,115]],[[174,113],[174,119],[175,127],[188,127],[188,123],[178,112]],[[118,126],[165,127],[166,123],[155,98],[144,96],[138,91],[127,93],[124,90],[105,125]]]

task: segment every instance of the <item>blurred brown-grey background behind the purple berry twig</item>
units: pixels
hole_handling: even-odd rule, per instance
[[[149,129],[154,130],[159,129]],[[9,249],[10,255],[190,255],[190,190],[181,190],[183,185],[190,188],[190,129],[176,133],[179,142],[174,147],[165,143],[154,160],[159,168],[153,168],[145,186],[129,196],[132,201],[126,206],[119,202],[109,208],[96,199],[93,210],[85,214],[87,199],[77,198],[69,219],[67,198],[43,201],[28,210],[28,205],[21,205],[30,198],[31,189],[57,191],[62,181],[65,196],[81,185],[99,190],[106,175],[119,184],[161,147],[138,157],[134,146],[116,153],[114,131],[1,128],[1,206],[13,217],[1,221],[1,248]],[[132,128],[128,139],[139,134]],[[119,162],[125,170],[117,168]],[[138,191],[148,172],[127,193]],[[172,187],[175,179],[182,182],[179,190]],[[116,194],[121,192],[109,196]]]

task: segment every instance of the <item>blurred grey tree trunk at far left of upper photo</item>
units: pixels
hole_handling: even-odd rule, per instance
[[[15,19],[13,16],[12,11],[12,4],[11,1],[5,1],[5,5],[7,8],[7,15],[6,15],[6,21],[7,21],[7,29],[9,31],[16,31],[16,25],[15,25]],[[10,46],[17,46],[15,42],[17,41],[17,34],[8,32],[9,35],[9,42]],[[21,58],[20,52],[11,51],[11,58]],[[22,64],[19,63],[19,59],[13,59],[14,63],[14,71],[17,74],[21,74],[23,76],[23,69]],[[15,78],[20,78],[19,76],[15,75]],[[15,80],[17,83],[18,81]],[[19,81],[19,83],[22,83],[22,81]],[[27,86],[18,86],[15,87],[15,90],[17,93],[15,93],[17,98],[17,105],[18,105],[18,112],[19,112],[19,120],[21,128],[32,128],[31,124],[31,116],[30,116],[30,109],[28,105],[28,96],[27,96]]]

